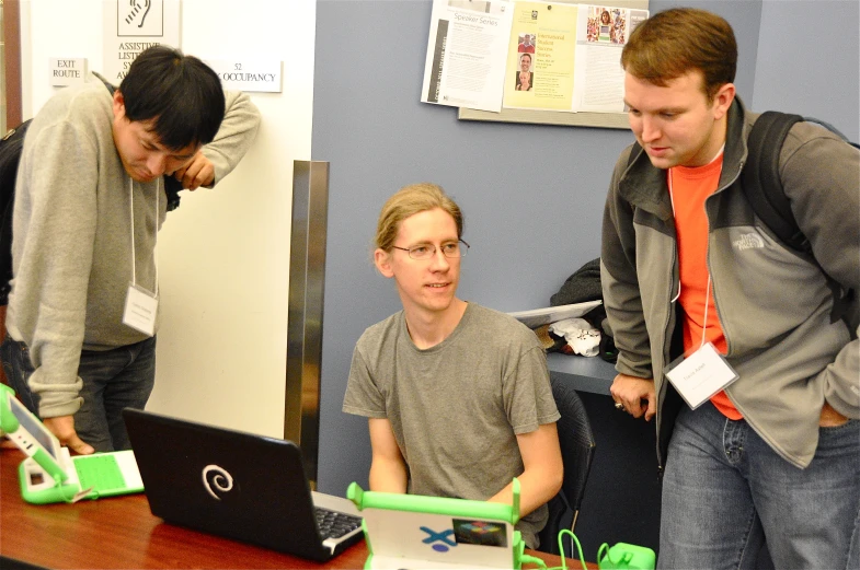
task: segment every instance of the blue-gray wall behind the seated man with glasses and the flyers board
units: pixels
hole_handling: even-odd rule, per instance
[[[856,126],[857,2],[821,2],[836,5],[825,13],[807,10],[809,27],[789,36],[780,27],[796,20],[795,3],[768,1],[764,10],[752,0],[684,5],[720,13],[734,27],[736,84],[745,101],[768,106],[770,93],[798,91],[804,78],[817,77],[794,66],[760,84],[759,77],[771,73],[773,51],[816,53],[832,73],[830,89],[852,93],[817,106],[813,96],[804,113],[852,114]],[[833,16],[834,10],[851,11],[839,4],[853,5],[853,20]],[[670,5],[680,3],[651,3],[652,11]],[[599,254],[609,174],[632,141],[622,130],[459,121],[454,108],[420,103],[429,16],[428,0],[320,0],[317,7],[312,158],[331,162],[318,478],[326,492],[367,481],[367,422],[341,412],[341,404],[355,341],[400,309],[392,283],[369,261],[382,202],[410,183],[440,184],[462,207],[472,244],[460,296],[502,311],[546,306],[570,274]],[[840,39],[847,57],[822,44],[822,35],[837,35],[836,22],[851,23],[838,34],[852,37],[828,39]],[[836,80],[842,75],[850,80]],[[759,90],[767,95],[757,96]]]

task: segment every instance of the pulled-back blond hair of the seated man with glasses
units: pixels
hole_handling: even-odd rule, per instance
[[[376,225],[376,246],[390,252],[394,246],[400,224],[406,218],[439,208],[448,212],[457,224],[457,237],[462,236],[462,212],[440,186],[431,183],[412,184],[399,189],[382,206]]]

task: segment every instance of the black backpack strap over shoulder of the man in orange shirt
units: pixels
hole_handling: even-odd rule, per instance
[[[803,235],[779,177],[779,154],[791,127],[803,120],[800,115],[787,115],[775,110],[762,113],[753,125],[747,139],[749,153],[741,173],[741,186],[749,205],[765,225],[780,242],[804,253],[812,253]]]

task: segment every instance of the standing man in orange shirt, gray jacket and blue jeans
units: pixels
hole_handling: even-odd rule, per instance
[[[695,9],[622,51],[638,144],[604,217],[610,392],[656,418],[661,568],[753,568],[765,540],[776,568],[859,568],[860,345],[827,275],[860,287],[860,153],[792,127],[779,171],[815,257],[779,242],[741,187],[758,115],[736,61],[729,23]]]

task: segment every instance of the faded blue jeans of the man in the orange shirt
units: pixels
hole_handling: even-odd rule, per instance
[[[819,428],[815,457],[800,469],[746,421],[709,403],[685,406],[662,509],[658,568],[755,568],[765,540],[778,569],[860,568],[860,420]]]

